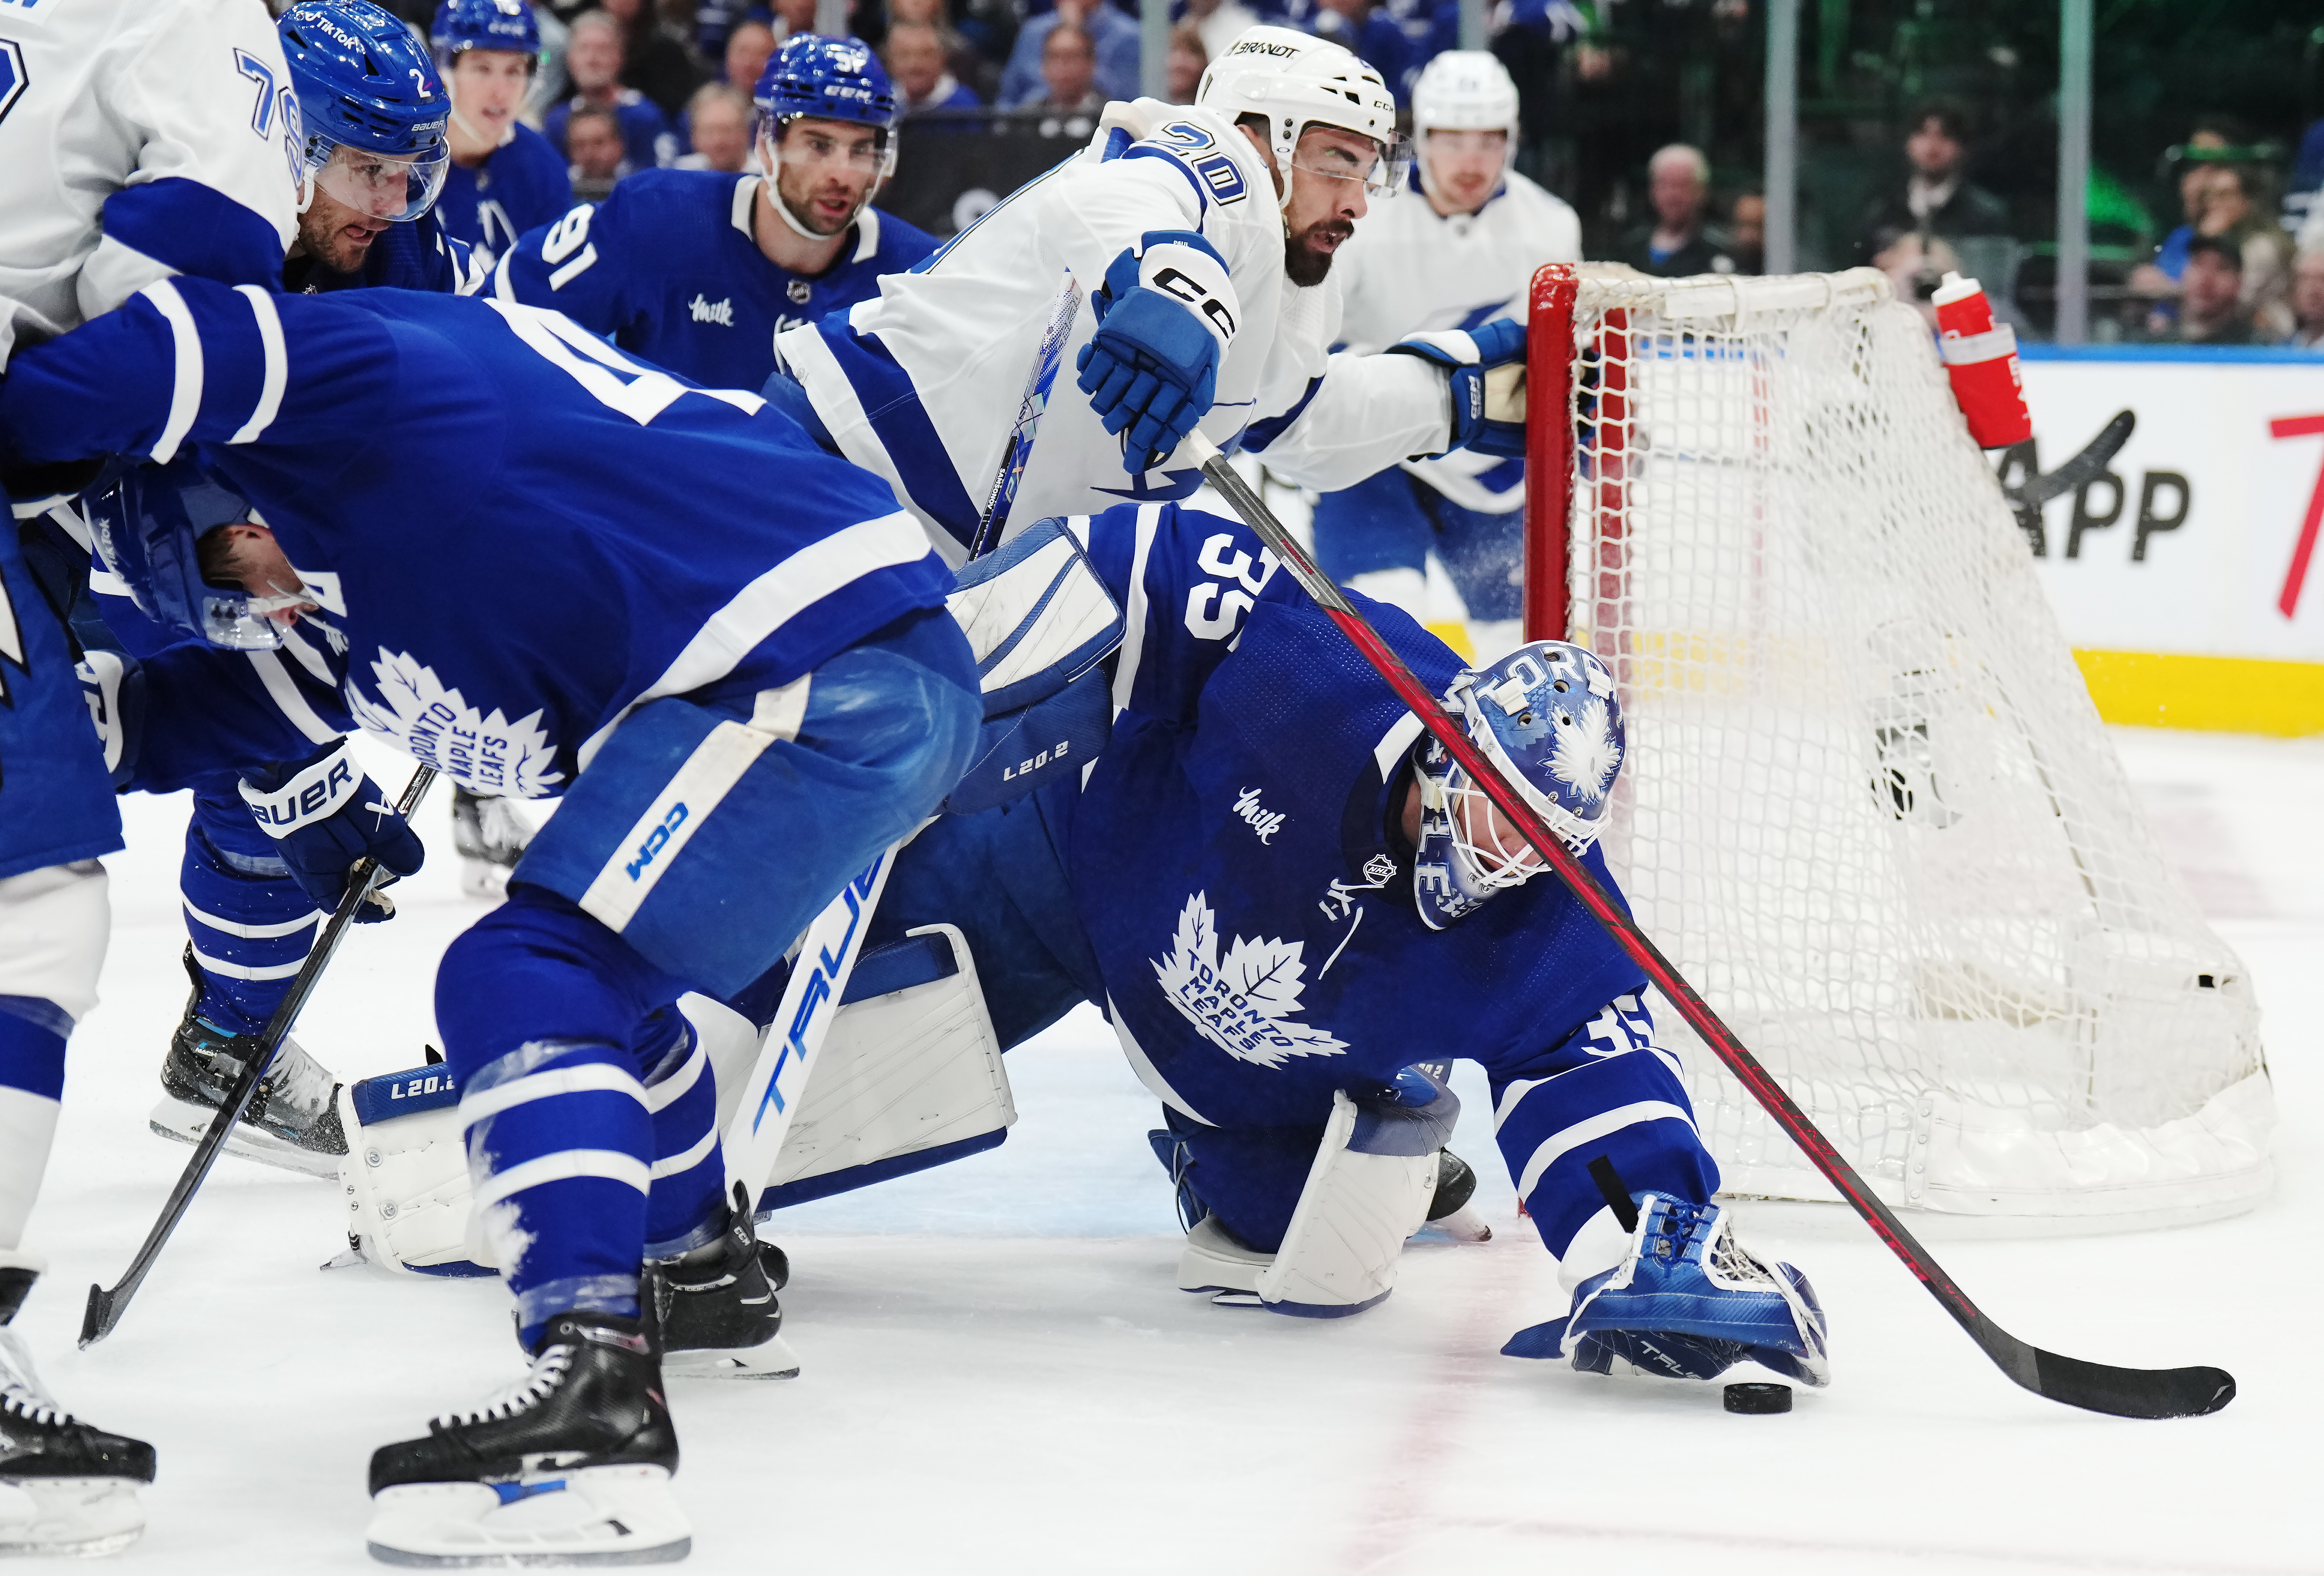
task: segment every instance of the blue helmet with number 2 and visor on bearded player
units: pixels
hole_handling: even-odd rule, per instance
[[[274,30],[307,128],[307,202],[321,188],[367,219],[425,214],[451,170],[451,98],[418,35],[372,0],[300,0]]]

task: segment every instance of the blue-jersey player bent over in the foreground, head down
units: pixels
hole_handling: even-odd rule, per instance
[[[330,725],[560,795],[437,972],[532,1371],[374,1455],[370,1539],[474,1564],[523,1499],[528,1557],[681,1555],[651,1332],[748,1369],[781,1355],[781,1313],[674,1004],[767,972],[960,776],[978,686],[941,558],[758,395],[497,300],[163,281],[21,353],[0,442],[5,463],[191,458],[207,483],[135,472],[95,516],[156,614],[249,646],[297,611],[286,672]],[[216,486],[265,525],[202,530],[235,514]],[[309,739],[232,651],[174,646],[144,686],[149,730],[116,748],[132,786],[279,758],[239,790],[316,904],[358,855],[416,865],[344,753],[300,765]]]

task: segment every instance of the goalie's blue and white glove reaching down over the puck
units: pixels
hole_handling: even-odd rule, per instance
[[[1808,1276],[1764,1265],[1717,1204],[1641,1192],[1629,1253],[1573,1288],[1573,1311],[1520,1330],[1511,1357],[1569,1357],[1583,1374],[1717,1378],[1757,1362],[1803,1385],[1831,1383],[1824,1309]]]

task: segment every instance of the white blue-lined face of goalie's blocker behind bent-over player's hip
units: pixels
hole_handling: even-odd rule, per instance
[[[1122,609],[1064,521],[962,565],[944,604],[976,653],[985,716],[1055,695],[1122,644]]]

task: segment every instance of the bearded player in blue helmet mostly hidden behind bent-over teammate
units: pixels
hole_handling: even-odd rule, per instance
[[[279,35],[307,137],[307,207],[300,239],[284,263],[284,286],[474,291],[479,270],[467,263],[460,242],[439,232],[428,207],[444,170],[446,100],[409,28],[370,0],[302,0],[284,14]],[[360,170],[376,179],[358,188]],[[358,198],[386,219],[372,223],[372,216],[358,214],[363,223],[351,223],[349,202]],[[335,258],[349,267],[337,267]],[[184,639],[181,630],[146,618],[116,576],[100,569],[91,590],[130,653],[151,656]],[[339,732],[295,700],[281,653],[253,651],[246,660],[286,700],[309,748],[337,742]],[[179,872],[193,990],[170,1037],[163,1097],[149,1123],[153,1132],[186,1144],[202,1134],[232,1088],[321,923],[272,839],[251,825],[235,781],[235,772],[218,772],[193,783],[193,821]],[[481,825],[483,804],[465,802],[462,809]],[[495,807],[495,814],[504,816],[504,809]],[[249,1116],[228,1139],[228,1153],[337,1176],[346,1139],[335,1090],[330,1069],[295,1039],[286,1041]]]

